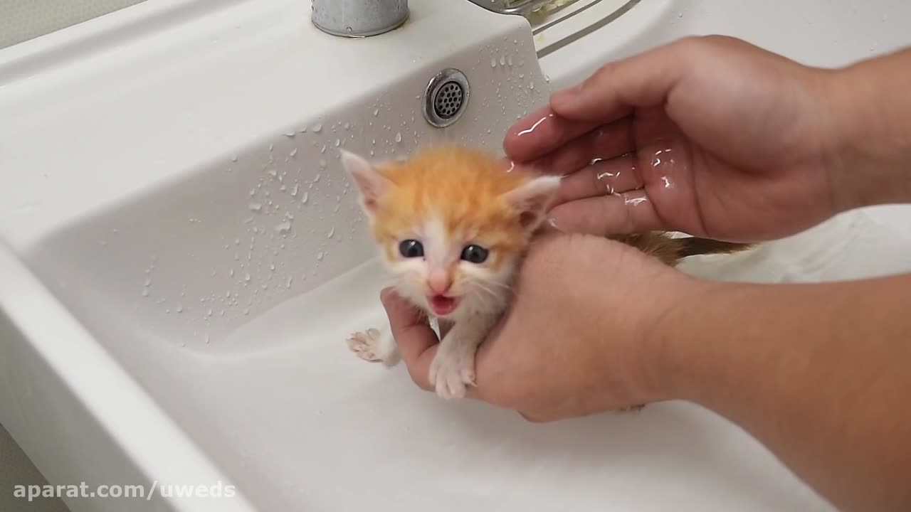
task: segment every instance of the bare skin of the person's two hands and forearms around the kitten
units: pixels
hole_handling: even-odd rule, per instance
[[[911,202],[908,91],[911,50],[824,70],[701,37],[555,94],[505,148],[571,173],[551,210],[564,232],[533,244],[468,396],[539,422],[689,400],[835,507],[911,509],[911,274],[706,282],[592,236],[767,241]],[[431,389],[435,334],[394,292],[383,302],[409,373]]]

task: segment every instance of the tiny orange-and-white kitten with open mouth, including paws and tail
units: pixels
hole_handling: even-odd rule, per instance
[[[430,148],[401,162],[374,166],[342,151],[363,211],[395,290],[450,327],[430,368],[442,398],[465,396],[475,384],[478,343],[506,310],[517,267],[545,219],[560,178],[527,169],[507,171],[501,160],[460,147]],[[664,261],[744,249],[707,239],[662,233],[611,237]],[[349,347],[362,359],[398,363],[388,326],[354,333]]]

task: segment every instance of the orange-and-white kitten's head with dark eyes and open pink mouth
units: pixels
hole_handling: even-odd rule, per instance
[[[435,316],[495,312],[559,185],[494,156],[433,148],[373,165],[343,151],[396,290]]]

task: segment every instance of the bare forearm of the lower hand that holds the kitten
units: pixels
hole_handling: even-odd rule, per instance
[[[741,425],[836,507],[911,509],[911,275],[697,286],[660,325],[669,397]]]

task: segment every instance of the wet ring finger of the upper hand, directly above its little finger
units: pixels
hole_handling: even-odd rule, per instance
[[[569,175],[560,183],[554,206],[586,198],[609,196],[641,189],[636,157],[632,154],[598,161]]]

